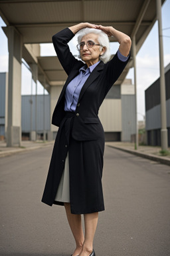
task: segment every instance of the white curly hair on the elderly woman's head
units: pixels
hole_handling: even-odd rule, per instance
[[[81,42],[82,37],[84,37],[84,35],[88,35],[88,34],[97,34],[98,35],[98,43],[100,43],[101,45],[101,49],[102,47],[106,47],[106,51],[104,52],[103,55],[101,55],[99,57],[100,61],[103,61],[104,63],[107,63],[110,60],[110,44],[109,44],[109,39],[108,39],[108,35],[106,35],[106,33],[104,33],[102,30],[100,29],[90,29],[88,27],[86,27],[86,29],[81,29],[80,31],[78,31],[78,43]]]

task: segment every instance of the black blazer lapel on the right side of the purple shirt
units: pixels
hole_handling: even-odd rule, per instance
[[[92,84],[92,82],[100,75],[100,71],[104,69],[104,63],[100,61],[100,63],[95,67],[95,69],[92,71],[86,82],[84,83],[80,95],[78,98],[78,101],[82,98],[82,95],[84,95],[86,89]]]

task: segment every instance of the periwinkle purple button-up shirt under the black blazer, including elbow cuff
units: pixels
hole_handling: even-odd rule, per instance
[[[120,53],[118,50],[118,58],[121,61],[127,61],[128,57],[125,57]],[[94,65],[90,66],[87,68],[87,65],[84,65],[79,69],[79,74],[68,83],[66,87],[66,92],[65,92],[65,103],[64,103],[64,111],[76,111],[76,105],[78,103],[78,98],[80,95],[80,91],[88,79],[90,73],[94,70],[94,68],[100,63],[98,61]]]

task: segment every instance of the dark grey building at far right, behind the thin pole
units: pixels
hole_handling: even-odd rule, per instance
[[[168,145],[170,147],[170,63],[165,67]],[[160,81],[145,90],[145,123],[147,145],[161,145]]]

